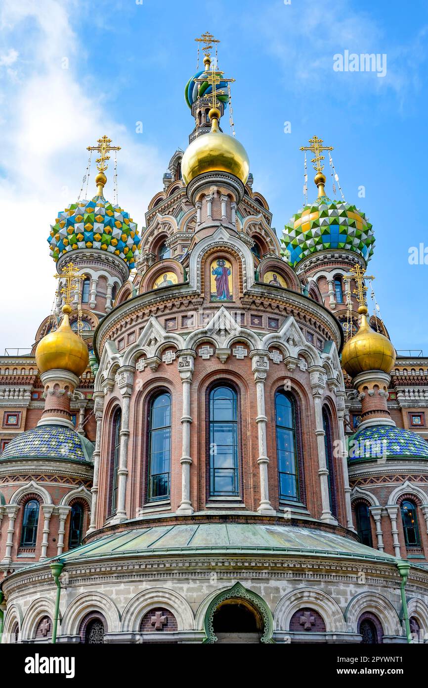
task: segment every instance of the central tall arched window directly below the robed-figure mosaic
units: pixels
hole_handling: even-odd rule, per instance
[[[210,391],[210,495],[239,495],[238,397],[232,387]]]

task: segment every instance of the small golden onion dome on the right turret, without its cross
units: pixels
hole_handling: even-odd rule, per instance
[[[390,373],[395,363],[395,349],[387,337],[374,332],[367,320],[367,307],[361,305],[361,325],[342,351],[342,367],[351,378],[368,370]]]

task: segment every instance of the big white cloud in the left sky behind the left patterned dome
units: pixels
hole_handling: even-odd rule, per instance
[[[140,227],[164,169],[157,150],[111,116],[102,85],[91,83],[87,71],[80,77],[85,52],[69,9],[78,21],[76,3],[6,0],[1,8],[0,29],[6,43],[19,45],[19,60],[14,48],[6,48],[3,59],[17,69],[3,88],[0,120],[0,354],[5,347],[32,345],[50,312],[56,280],[49,225],[78,196],[87,145],[106,133],[122,147],[119,202]],[[113,170],[107,176],[106,196],[113,200]]]

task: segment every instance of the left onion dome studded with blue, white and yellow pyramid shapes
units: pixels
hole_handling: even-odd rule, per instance
[[[133,268],[141,239],[129,213],[98,193],[91,201],[71,203],[58,213],[47,241],[55,262],[68,251],[99,248],[117,255]]]

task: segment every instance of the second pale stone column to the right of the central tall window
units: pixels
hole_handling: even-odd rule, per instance
[[[318,475],[321,485],[322,514],[321,520],[327,523],[337,524],[335,517],[330,511],[330,495],[328,491],[328,469],[326,460],[326,447],[324,444],[324,424],[322,422],[322,394],[326,387],[326,375],[324,368],[317,365],[309,369],[311,374],[311,388],[315,404],[315,435],[317,436],[318,449]]]

